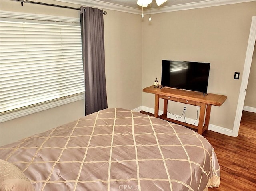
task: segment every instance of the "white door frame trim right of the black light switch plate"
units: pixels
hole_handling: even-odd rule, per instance
[[[249,39],[248,39],[247,51],[246,51],[246,56],[244,61],[244,71],[242,75],[240,93],[239,93],[238,103],[236,108],[236,116],[235,116],[235,121],[233,126],[233,132],[232,132],[233,137],[237,137],[239,132],[240,122],[242,118],[242,111],[244,107],[244,99],[246,95],[246,88],[247,88],[248,79],[250,75],[250,68],[252,64],[252,56],[254,51],[255,40],[256,40],[256,16],[253,16]]]

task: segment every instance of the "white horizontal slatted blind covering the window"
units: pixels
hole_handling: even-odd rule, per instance
[[[0,21],[0,112],[84,92],[79,24]]]

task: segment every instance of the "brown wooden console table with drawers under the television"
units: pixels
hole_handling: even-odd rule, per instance
[[[164,120],[168,120],[170,122],[174,122],[176,124],[180,124],[190,128],[195,128],[197,129],[197,132],[201,135],[205,130],[208,130],[212,105],[221,106],[227,99],[227,96],[224,96],[224,95],[208,93],[208,95],[204,96],[203,93],[201,92],[173,89],[173,88],[166,88],[166,87],[163,87],[162,89],[160,89],[160,88],[154,88],[153,86],[150,86],[150,87],[144,88],[143,91],[147,93],[155,94],[155,114],[154,114],[155,117],[162,118]],[[164,99],[164,113],[161,116],[158,115],[160,98]],[[168,100],[200,106],[198,126],[167,118]]]

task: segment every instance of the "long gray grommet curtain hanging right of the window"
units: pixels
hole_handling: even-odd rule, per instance
[[[80,7],[85,82],[85,114],[108,108],[103,10]]]

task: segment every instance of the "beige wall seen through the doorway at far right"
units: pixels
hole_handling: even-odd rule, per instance
[[[252,65],[244,100],[244,106],[256,108],[256,44],[252,56]]]

